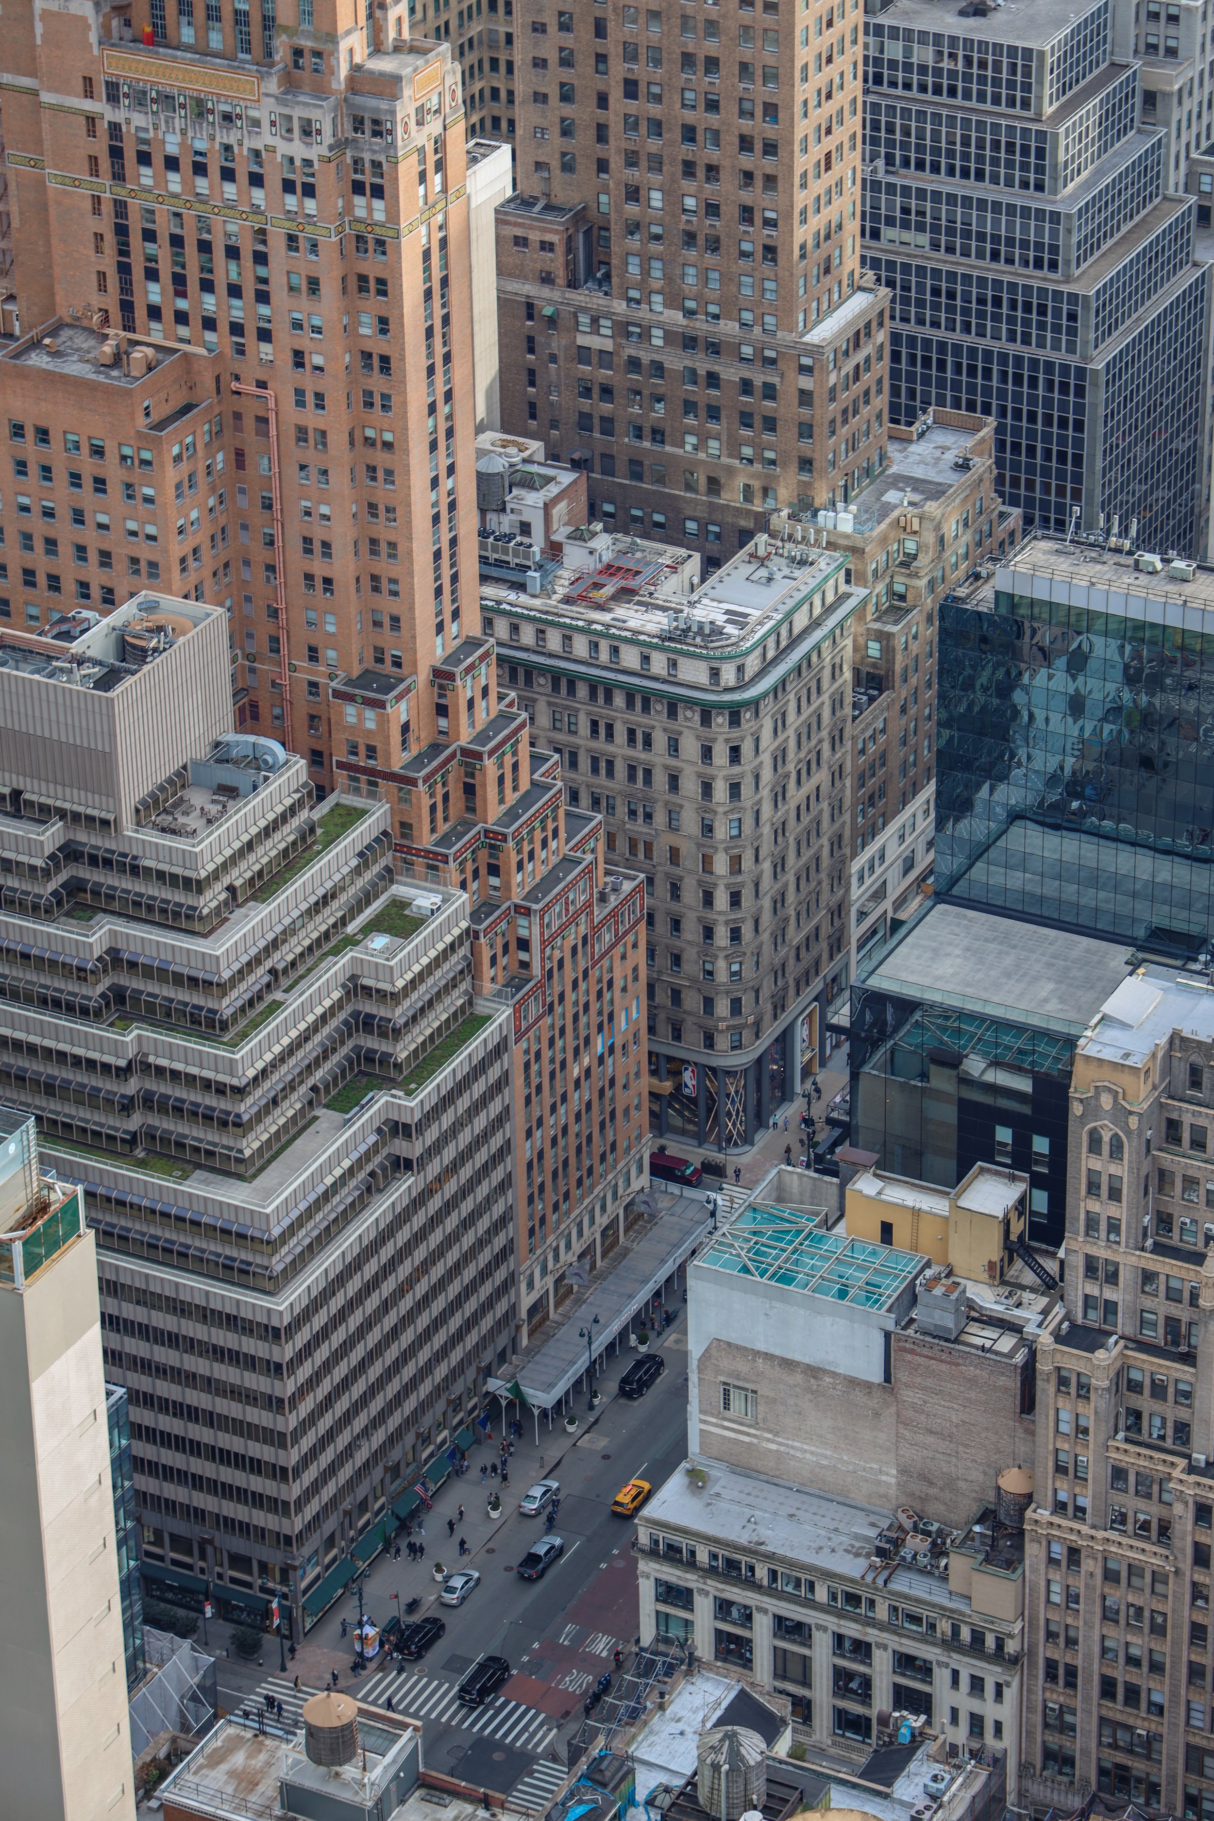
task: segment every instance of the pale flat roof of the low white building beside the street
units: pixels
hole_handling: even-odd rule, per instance
[[[728,1537],[730,1550],[737,1550],[739,1555],[746,1551],[775,1555],[795,1562],[803,1572],[863,1581],[875,1555],[877,1537],[897,1528],[890,1511],[870,1504],[806,1491],[803,1486],[746,1473],[743,1468],[704,1457],[688,1466],[701,1468],[706,1475],[704,1484],[697,1486],[683,1468],[675,1470],[644,1506],[639,1517],[642,1531],[672,1526],[713,1541]],[[950,1590],[946,1573],[914,1568],[901,1561],[888,1579],[883,1579],[881,1592],[928,1599],[959,1612],[970,1610],[968,1597]]]

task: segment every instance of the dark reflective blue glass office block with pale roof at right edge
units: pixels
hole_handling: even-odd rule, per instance
[[[939,610],[936,890],[1145,952],[1214,929],[1214,570],[1036,539]]]

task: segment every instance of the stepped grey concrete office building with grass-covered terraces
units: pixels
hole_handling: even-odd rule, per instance
[[[0,1078],[96,1233],[144,1572],[240,1613],[280,1584],[302,1635],[513,1344],[508,1014],[473,1012],[468,898],[393,894],[388,807],[313,816],[233,732],[222,612],[142,595],[2,656]],[[348,1324],[377,1364],[337,1389]]]

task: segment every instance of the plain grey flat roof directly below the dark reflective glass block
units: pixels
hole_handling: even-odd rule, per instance
[[[861,985],[1081,1036],[1130,972],[1128,954],[1125,941],[937,900],[875,958]]]

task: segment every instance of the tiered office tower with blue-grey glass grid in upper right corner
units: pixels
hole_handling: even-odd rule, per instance
[[[1196,49],[1196,5],[874,5],[861,235],[890,291],[895,422],[992,415],[999,492],[1027,526],[1116,519],[1139,548],[1196,555],[1209,266],[1179,195],[1181,109],[1141,106],[1163,93],[1172,15]]]

